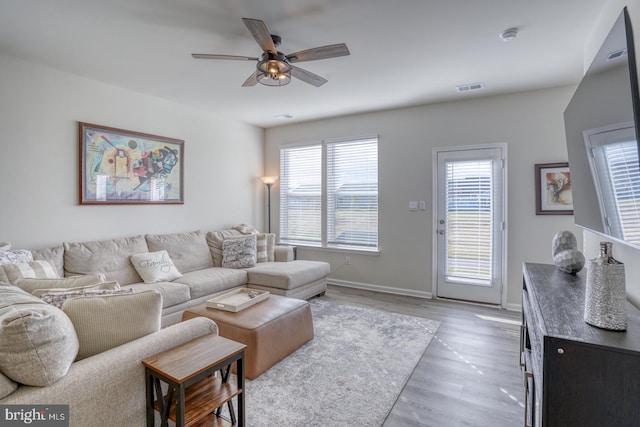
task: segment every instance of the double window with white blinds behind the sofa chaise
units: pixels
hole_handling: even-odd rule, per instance
[[[377,137],[280,149],[280,240],[377,250]]]

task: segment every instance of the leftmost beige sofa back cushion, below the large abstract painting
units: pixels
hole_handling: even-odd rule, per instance
[[[104,273],[106,279],[120,285],[140,283],[129,257],[149,252],[143,236],[122,239],[64,243],[64,270],[66,276]]]

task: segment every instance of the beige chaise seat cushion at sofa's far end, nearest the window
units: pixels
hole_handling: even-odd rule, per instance
[[[278,289],[295,289],[327,277],[329,264],[321,261],[264,262],[247,268],[247,282]]]

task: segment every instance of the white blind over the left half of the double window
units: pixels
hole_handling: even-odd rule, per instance
[[[280,150],[280,240],[322,242],[322,145]]]

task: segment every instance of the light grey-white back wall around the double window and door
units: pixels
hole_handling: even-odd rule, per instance
[[[520,305],[522,262],[552,262],[551,240],[571,230],[571,216],[536,216],[534,164],[567,160],[563,112],[574,87],[362,114],[266,131],[266,173],[278,175],[281,144],[379,134],[379,256],[299,249],[300,258],[329,261],[331,277],[386,291],[426,295],[432,289],[432,149],[508,144],[508,305]],[[272,228],[278,228],[274,187]],[[426,211],[408,210],[426,200]]]

